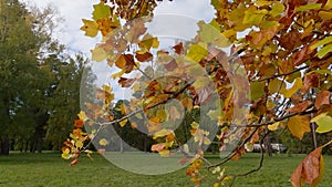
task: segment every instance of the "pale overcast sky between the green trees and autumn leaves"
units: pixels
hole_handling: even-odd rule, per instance
[[[91,50],[94,49],[102,37],[98,34],[96,38],[84,35],[80,30],[83,25],[82,19],[92,19],[93,4],[100,0],[21,0],[28,7],[44,8],[52,6],[59,11],[59,17],[64,21],[59,23],[58,29],[53,37],[60,41],[61,44],[66,45],[70,52],[82,52],[86,58],[91,59]],[[210,0],[164,0],[155,9],[155,18],[157,18],[152,27],[149,33],[156,37],[174,38],[179,35],[181,39],[194,38],[196,34],[196,22],[198,20],[211,21],[215,14],[214,8],[210,6]],[[165,15],[172,14],[172,15]],[[196,29],[190,29],[196,27]],[[160,45],[163,45],[160,43]],[[92,69],[97,75],[97,85],[110,83],[111,73],[117,72],[116,70],[107,67],[106,62],[93,63]],[[112,85],[116,83],[111,83]],[[113,86],[114,87],[114,86]],[[121,87],[114,87],[121,92],[122,98],[127,97],[129,92],[121,91]],[[123,94],[122,94],[123,93]]]

